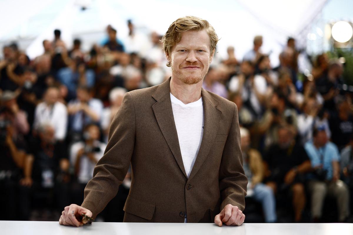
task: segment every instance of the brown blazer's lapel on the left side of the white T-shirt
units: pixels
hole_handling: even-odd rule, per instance
[[[181,157],[177,128],[175,128],[172,103],[170,101],[170,78],[158,86],[152,97],[157,101],[152,105],[152,109],[157,119],[157,123],[166,139],[180,170],[185,173],[183,158]]]

